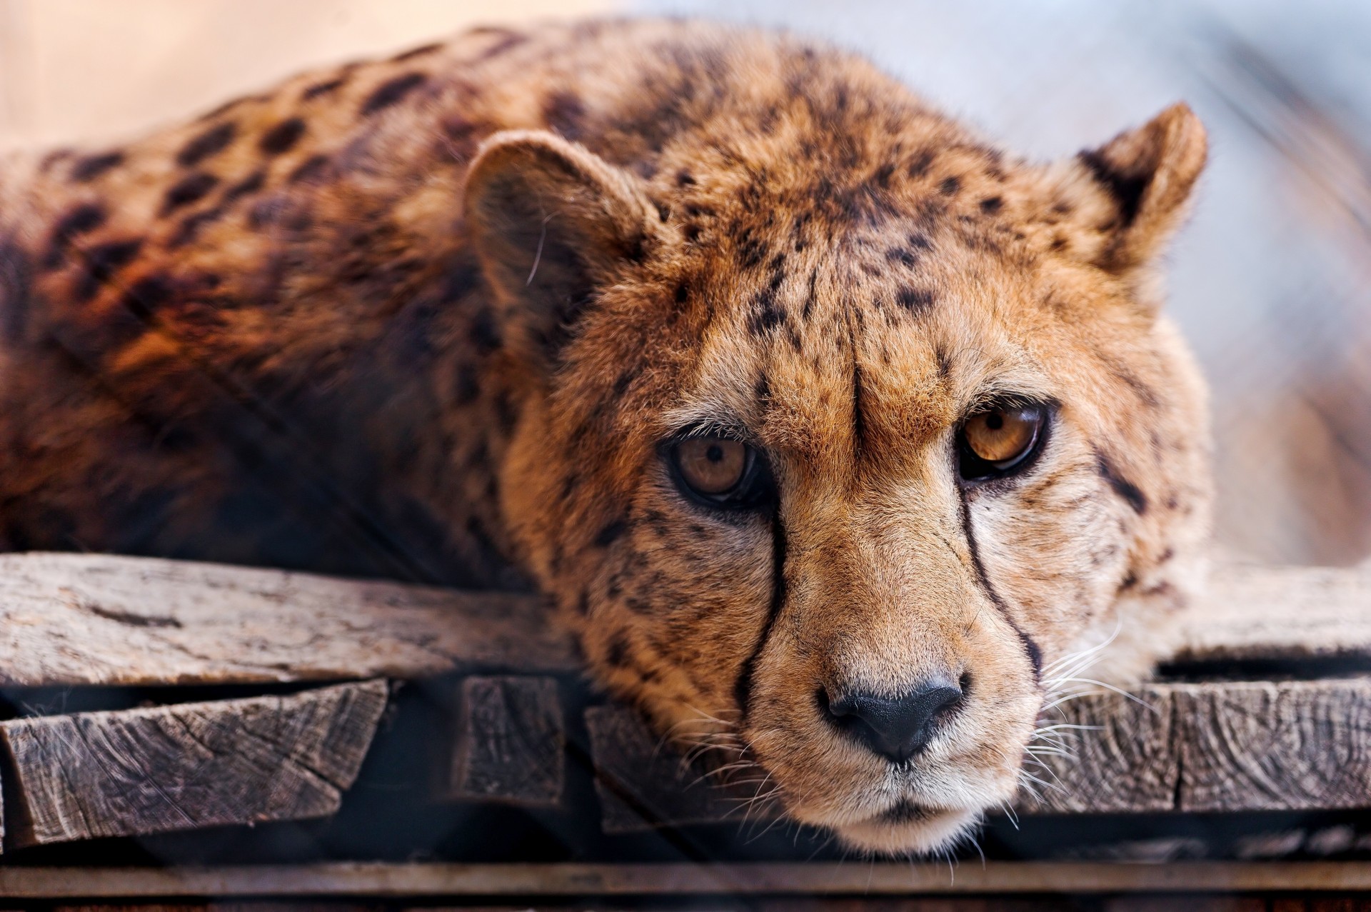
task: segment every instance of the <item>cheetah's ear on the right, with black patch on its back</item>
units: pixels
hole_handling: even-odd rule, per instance
[[[1071,189],[1087,196],[1078,218],[1098,232],[1095,265],[1128,273],[1163,251],[1185,218],[1206,145],[1204,123],[1182,101],[1076,155]]]

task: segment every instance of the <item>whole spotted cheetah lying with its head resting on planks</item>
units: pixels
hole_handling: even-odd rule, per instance
[[[478,29],[0,166],[0,547],[535,588],[872,853],[1204,579],[1185,104],[1054,163],[845,52]],[[1090,650],[1094,650],[1090,653]]]

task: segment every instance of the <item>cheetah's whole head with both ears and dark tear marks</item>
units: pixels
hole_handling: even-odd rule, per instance
[[[466,200],[522,340],[503,509],[599,680],[880,853],[1015,800],[1064,657],[1145,669],[1206,502],[1145,273],[1194,117],[1053,167],[917,126],[651,181],[499,134]]]

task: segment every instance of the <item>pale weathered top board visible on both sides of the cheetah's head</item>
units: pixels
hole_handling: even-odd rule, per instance
[[[1371,656],[1367,569],[1220,565],[1179,658]],[[167,684],[563,672],[533,595],[189,561],[0,555],[0,683]]]

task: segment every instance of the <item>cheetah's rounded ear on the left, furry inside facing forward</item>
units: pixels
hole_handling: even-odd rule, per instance
[[[488,139],[466,176],[466,224],[528,354],[554,363],[598,288],[659,240],[640,181],[540,130]]]

